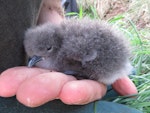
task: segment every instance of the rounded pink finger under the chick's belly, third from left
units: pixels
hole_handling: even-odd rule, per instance
[[[71,81],[64,85],[59,98],[66,104],[87,104],[102,98],[106,86],[92,80]]]

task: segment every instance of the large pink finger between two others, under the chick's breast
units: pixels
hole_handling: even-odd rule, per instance
[[[75,78],[58,72],[40,74],[24,81],[16,96],[22,104],[37,107],[58,98],[63,85],[71,80]]]

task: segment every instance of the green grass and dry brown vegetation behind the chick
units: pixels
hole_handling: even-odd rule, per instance
[[[124,32],[133,47],[130,78],[139,94],[114,97],[113,101],[150,113],[150,0],[77,0],[78,18],[106,20]]]

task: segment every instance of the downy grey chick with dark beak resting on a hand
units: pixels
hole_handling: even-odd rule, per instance
[[[24,44],[28,56],[34,56],[30,67],[35,64],[77,78],[112,84],[132,69],[123,34],[97,20],[70,19],[60,26],[49,23],[29,29]]]

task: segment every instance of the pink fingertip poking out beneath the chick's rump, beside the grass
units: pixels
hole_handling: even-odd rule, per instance
[[[112,87],[120,95],[132,95],[138,93],[136,86],[128,77],[117,80]]]

